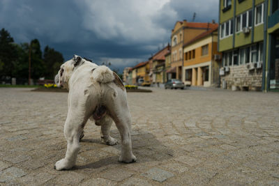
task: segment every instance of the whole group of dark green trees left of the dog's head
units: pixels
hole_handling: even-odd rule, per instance
[[[10,33],[5,29],[0,31],[0,77],[16,77],[28,79],[29,56],[31,56],[31,78],[45,77],[53,79],[63,63],[63,55],[53,48],[45,47],[44,54],[40,50],[38,39],[15,44]]]

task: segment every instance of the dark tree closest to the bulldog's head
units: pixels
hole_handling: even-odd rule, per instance
[[[43,61],[46,67],[45,78],[53,79],[64,59],[60,52],[57,52],[53,48],[46,46],[43,54]]]

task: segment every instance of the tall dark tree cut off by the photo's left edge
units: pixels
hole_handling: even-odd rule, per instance
[[[16,45],[5,29],[0,31],[0,75],[12,76],[13,62],[17,59]]]

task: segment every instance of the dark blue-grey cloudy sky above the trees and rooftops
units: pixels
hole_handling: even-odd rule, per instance
[[[178,20],[218,22],[218,0],[1,0],[0,27],[15,42],[37,38],[54,47],[123,70],[167,45]],[[0,28],[0,29],[1,29]]]

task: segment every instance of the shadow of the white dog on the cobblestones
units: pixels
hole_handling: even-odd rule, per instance
[[[111,135],[118,141],[121,141],[118,130],[112,130]],[[133,154],[137,157],[137,162],[135,163],[163,161],[174,156],[174,151],[167,148],[167,146],[164,146],[162,142],[158,141],[158,139],[156,139],[156,137],[150,132],[142,130],[133,131],[131,139],[133,143]],[[90,160],[87,159],[86,162],[83,163],[84,165],[75,166],[74,169],[100,169],[112,164],[123,164],[118,162],[119,155],[110,155],[108,157],[101,157],[100,155],[100,148],[110,149],[119,152],[120,154],[121,144],[106,146],[102,144],[100,139],[87,138],[82,139],[81,144],[83,143],[91,146],[92,158],[89,158]]]

